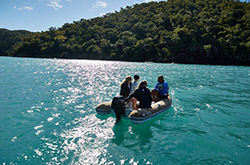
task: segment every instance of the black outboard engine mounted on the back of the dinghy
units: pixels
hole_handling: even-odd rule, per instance
[[[121,119],[121,114],[125,113],[125,98],[123,96],[116,96],[113,98],[111,108],[115,112],[116,119]]]

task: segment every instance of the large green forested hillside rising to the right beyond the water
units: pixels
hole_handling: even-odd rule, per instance
[[[0,40],[3,42],[0,33]],[[250,65],[250,3],[168,0],[6,42],[3,55]],[[5,51],[5,52],[3,52]]]

